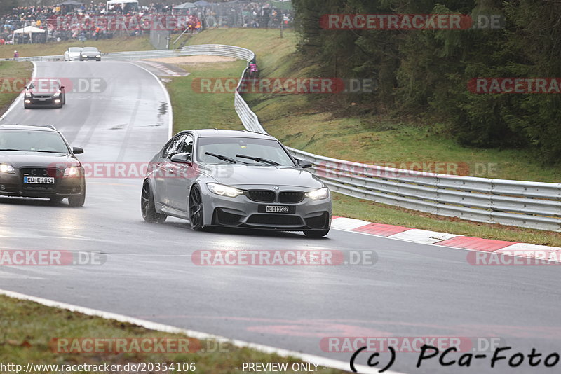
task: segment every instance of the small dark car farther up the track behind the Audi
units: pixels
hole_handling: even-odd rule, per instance
[[[65,86],[58,79],[44,78],[35,79],[24,88],[23,107],[62,108],[66,104]]]

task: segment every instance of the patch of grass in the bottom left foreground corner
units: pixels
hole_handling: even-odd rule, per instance
[[[88,353],[59,353],[58,343],[53,339],[68,338],[69,342],[80,342],[79,338],[132,338],[142,342],[142,338],[182,339],[181,334],[161,333],[148,330],[133,324],[126,324],[115,320],[91,317],[86,314],[69,312],[55,307],[46,307],[27,300],[18,300],[0,296],[0,362],[15,363],[24,368],[27,363],[36,364],[82,364],[100,365],[102,363],[195,363],[196,373],[239,373],[236,367],[243,362],[302,362],[294,358],[283,358],[276,354],[264,354],[254,349],[238,348],[232,345],[218,345],[210,340],[196,340],[189,338],[189,352],[181,353],[153,353],[137,352],[133,345],[133,352],[107,352],[108,349],[93,349],[97,352]],[[76,340],[74,340],[76,338]],[[62,340],[58,340],[61,342]],[[131,340],[132,341],[132,340]],[[183,345],[187,346],[187,345]],[[71,344],[60,345],[61,351]],[[76,346],[74,346],[76,347]],[[85,343],[79,347],[88,348]],[[107,347],[105,345],[104,347]],[[142,347],[142,346],[141,346]],[[171,345],[170,345],[171,347]],[[199,349],[200,348],[200,349]],[[142,350],[142,349],[140,349]],[[181,350],[181,349],[180,349]],[[106,352],[102,352],[106,351]],[[196,352],[191,352],[196,351]],[[121,366],[122,368],[122,366]],[[55,373],[55,370],[40,370],[41,373]],[[83,370],[73,373],[97,373]],[[119,371],[124,373],[124,371]],[[167,371],[151,371],[152,373],[167,373]],[[172,372],[172,371],[170,371]],[[184,371],[183,371],[184,372]],[[326,374],[344,373],[340,370],[322,370]],[[293,373],[289,370],[286,373]]]

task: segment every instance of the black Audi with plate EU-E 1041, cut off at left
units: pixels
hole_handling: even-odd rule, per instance
[[[0,125],[0,195],[46,198],[81,207],[86,179],[75,154],[53,126]]]

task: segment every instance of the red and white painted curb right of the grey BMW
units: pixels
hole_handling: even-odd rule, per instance
[[[419,244],[433,244],[441,247],[467,249],[470,251],[493,252],[516,257],[532,257],[544,261],[561,263],[561,247],[548,247],[528,243],[506,242],[463,235],[438,233],[403,226],[372,223],[360,219],[332,216],[331,228],[353,231],[367,235],[389,237]]]

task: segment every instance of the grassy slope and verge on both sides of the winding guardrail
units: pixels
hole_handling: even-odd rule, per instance
[[[189,38],[189,44],[220,43],[250,48],[257,54],[262,76],[302,77],[313,75],[313,67],[292,70],[296,36],[286,32],[280,38],[278,30],[218,29],[208,30]],[[243,69],[241,65],[238,74]],[[204,71],[207,76],[232,76],[217,66]],[[236,74],[234,74],[236,76]],[[192,94],[188,78],[185,83],[175,80],[170,87],[174,113],[177,107],[188,113],[201,113],[201,123],[191,125],[182,116],[175,130],[216,127],[219,118],[228,116],[229,125],[235,116],[231,95],[198,95],[196,107],[188,109]],[[184,85],[185,86],[182,86]],[[179,85],[180,87],[177,87]],[[203,97],[205,96],[205,97]],[[314,101],[306,95],[246,95],[265,129],[283,143],[333,158],[385,165],[403,162],[445,162],[458,164],[468,175],[501,179],[531,179],[561,181],[561,170],[539,165],[534,158],[520,151],[481,150],[461,147],[440,132],[439,126],[423,127],[388,116],[340,117],[328,102]],[[217,113],[217,101],[225,111]],[[225,107],[222,104],[226,105]],[[334,99],[333,104],[340,104]],[[208,118],[218,114],[216,120]],[[192,117],[191,117],[192,118]],[[191,120],[192,122],[192,120]],[[239,120],[235,118],[235,123]],[[203,125],[204,124],[204,125]],[[232,128],[232,127],[225,127]],[[238,126],[234,128],[240,128]],[[399,166],[398,166],[399,167]],[[474,175],[485,174],[485,175]],[[461,219],[435,216],[409,209],[381,205],[367,200],[349,198],[334,193],[334,214],[365,221],[388,223],[458,235],[485,237],[513,242],[561,246],[561,233],[512,226],[476,223]]]

